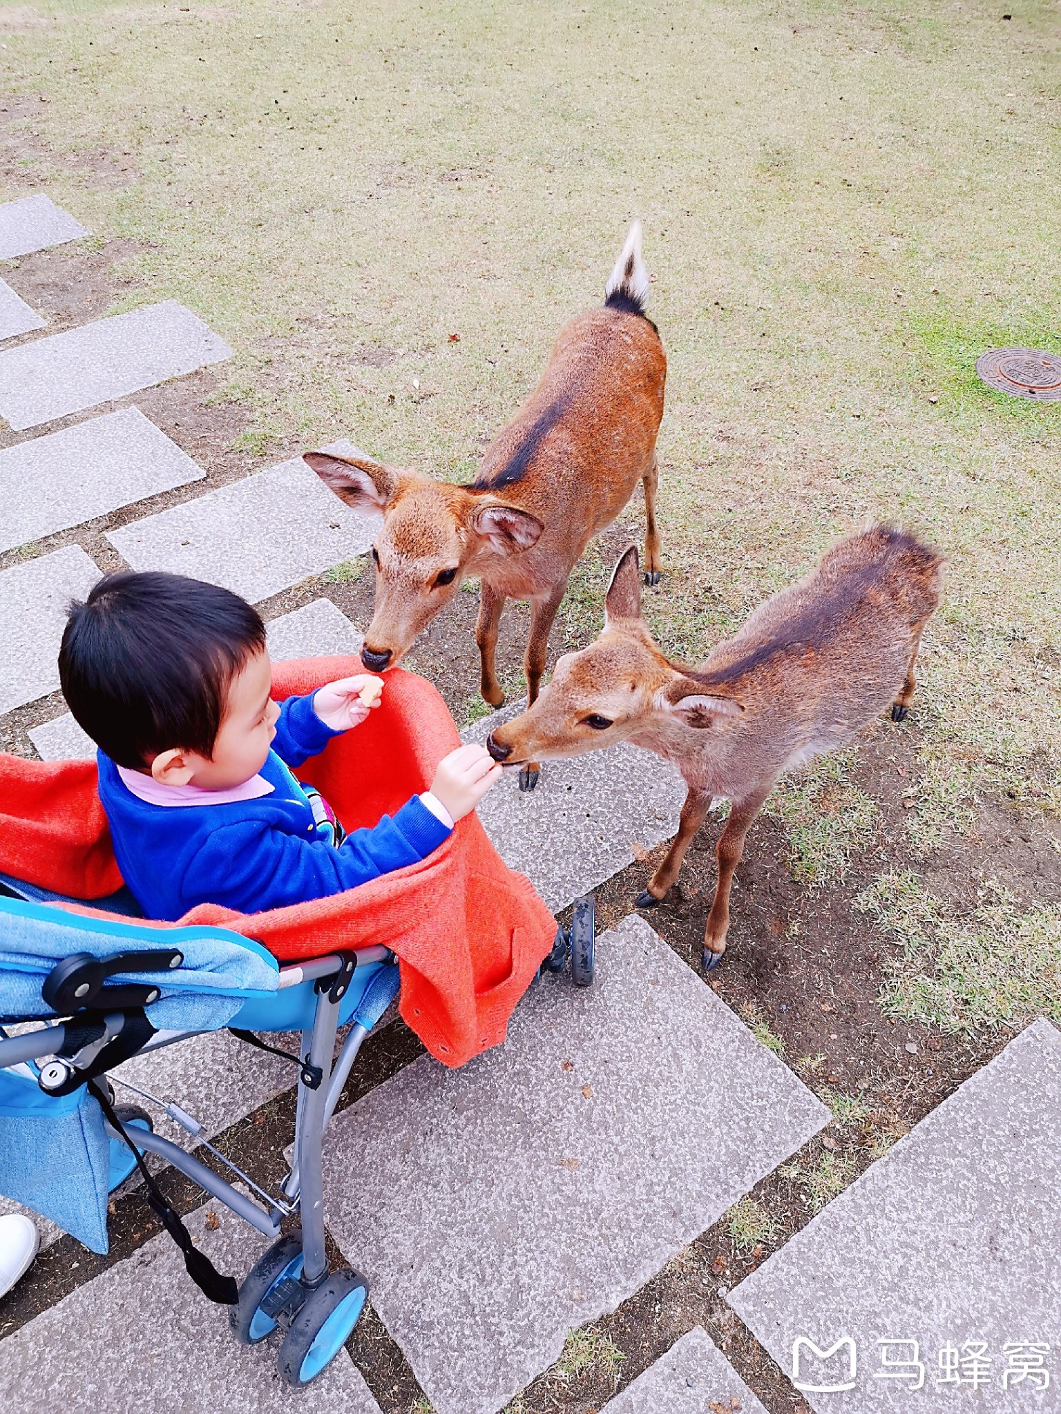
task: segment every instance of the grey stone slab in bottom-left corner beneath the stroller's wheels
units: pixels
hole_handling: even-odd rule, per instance
[[[267,1246],[221,1203],[185,1222],[236,1280]],[[277,1373],[276,1349],[276,1336],[236,1345],[228,1308],[207,1301],[161,1234],[3,1340],[0,1383],[4,1406],[25,1414],[379,1414],[345,1350],[314,1384],[294,1390]]]

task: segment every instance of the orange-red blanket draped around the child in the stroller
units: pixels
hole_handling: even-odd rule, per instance
[[[277,663],[273,696],[308,693],[361,670],[349,658]],[[457,745],[434,687],[396,669],[368,721],[331,741],[297,775],[355,830],[426,790],[439,761]],[[95,762],[0,755],[0,872],[85,899],[120,888]],[[202,904],[178,922],[256,937],[283,962],[335,947],[392,947],[400,962],[400,1014],[448,1066],[505,1039],[508,1018],[556,933],[549,909],[501,861],[475,814],[420,864],[345,894],[267,913]]]

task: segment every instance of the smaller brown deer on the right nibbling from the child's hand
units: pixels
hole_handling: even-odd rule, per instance
[[[842,747],[888,703],[894,721],[907,715],[941,571],[935,550],[876,526],[761,604],[706,663],[683,667],[645,626],[631,546],[611,577],[600,638],[564,655],[533,707],[498,727],[487,748],[515,766],[631,741],[678,766],[689,789],[680,824],[638,908],[665,898],[712,800],[730,800],[705,929],[710,971],[726,949],[744,837],[778,776]]]

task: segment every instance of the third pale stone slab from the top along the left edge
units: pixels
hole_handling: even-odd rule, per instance
[[[0,352],[0,414],[17,431],[232,358],[175,300]]]

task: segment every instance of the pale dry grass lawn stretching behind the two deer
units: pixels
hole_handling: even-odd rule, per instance
[[[467,478],[641,215],[665,646],[702,653],[833,537],[900,520],[951,561],[914,867],[975,839],[982,792],[1061,813],[1061,403],[973,372],[1061,344],[1055,6],[62,0],[0,30],[4,194],[45,184],[134,242],[124,303],[177,297],[232,342],[248,458],[349,434]],[[608,568],[590,551],[569,631]],[[871,823],[839,778],[840,807],[821,778],[774,806],[809,884]]]

